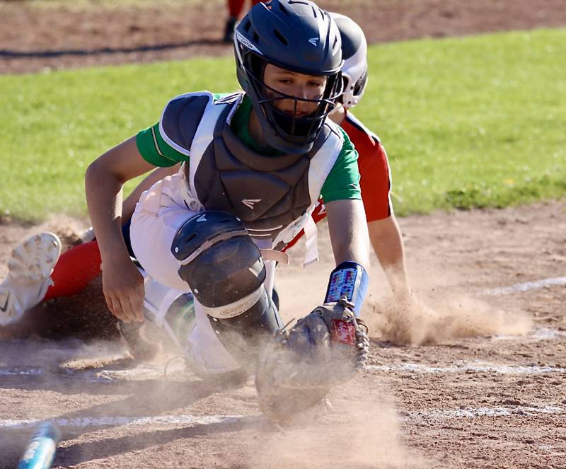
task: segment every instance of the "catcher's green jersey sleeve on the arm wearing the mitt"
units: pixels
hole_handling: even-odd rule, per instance
[[[320,195],[326,203],[333,200],[362,199],[362,190],[359,187],[358,152],[341,127],[340,132],[344,137],[342,150],[320,190]]]

